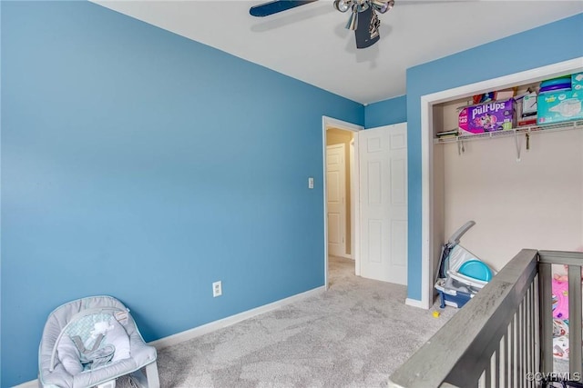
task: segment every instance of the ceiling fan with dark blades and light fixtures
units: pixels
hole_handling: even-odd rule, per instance
[[[249,13],[253,16],[264,17],[315,1],[317,0],[276,0],[252,6]],[[374,45],[381,37],[379,35],[381,21],[376,15],[377,12],[384,14],[389,11],[394,6],[394,0],[334,0],[333,6],[340,12],[352,10],[346,28],[354,31],[356,48],[366,48]]]

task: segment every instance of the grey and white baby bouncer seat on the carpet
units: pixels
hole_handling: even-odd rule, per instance
[[[156,359],[156,348],[144,342],[123,303],[90,296],[49,314],[38,349],[38,384],[113,388],[118,377],[131,374],[138,386],[159,388]]]

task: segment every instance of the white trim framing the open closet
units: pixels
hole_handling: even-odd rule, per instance
[[[435,247],[443,244],[443,242],[436,241],[433,221],[435,211],[433,201],[434,175],[431,167],[434,161],[433,105],[486,91],[504,89],[520,84],[530,84],[553,76],[578,73],[583,70],[581,59],[582,57],[579,56],[557,64],[541,66],[512,75],[503,75],[421,96],[421,300],[407,298],[406,304],[424,309],[429,309],[433,305]]]

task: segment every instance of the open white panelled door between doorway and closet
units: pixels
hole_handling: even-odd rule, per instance
[[[407,124],[359,133],[361,275],[407,284]]]

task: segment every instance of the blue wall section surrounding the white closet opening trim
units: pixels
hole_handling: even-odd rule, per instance
[[[583,56],[581,36],[578,14],[407,70],[409,298],[421,300],[421,96]]]

